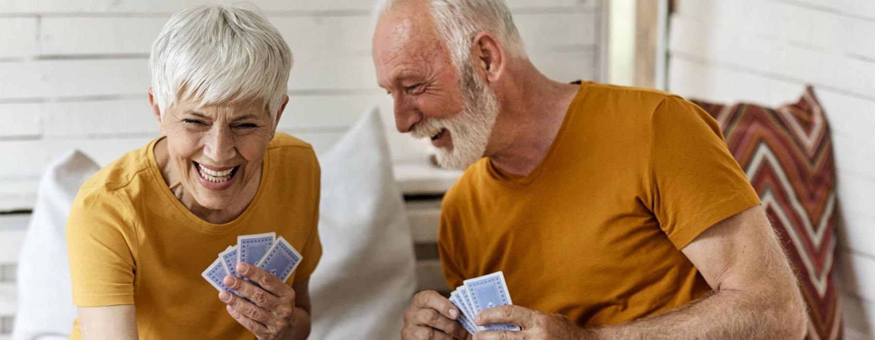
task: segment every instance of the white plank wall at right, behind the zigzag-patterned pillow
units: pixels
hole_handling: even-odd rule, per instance
[[[838,170],[845,336],[875,337],[875,2],[676,0],[669,91],[777,106],[811,84]]]

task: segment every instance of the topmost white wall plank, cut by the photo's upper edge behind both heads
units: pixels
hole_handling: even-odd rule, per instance
[[[5,14],[100,14],[100,13],[171,13],[184,7],[204,3],[201,0],[153,0],[143,2],[137,0],[5,0],[0,13]],[[261,10],[265,12],[285,11],[339,11],[354,12],[358,15],[367,15],[375,1],[350,1],[350,0],[254,0]],[[542,0],[532,2],[530,0],[508,0],[507,4],[512,9],[519,10],[570,10],[591,9],[598,5],[596,0]]]

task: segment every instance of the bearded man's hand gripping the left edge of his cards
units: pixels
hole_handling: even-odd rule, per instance
[[[434,290],[413,295],[404,312],[402,339],[464,339],[468,333],[458,322],[458,309]]]

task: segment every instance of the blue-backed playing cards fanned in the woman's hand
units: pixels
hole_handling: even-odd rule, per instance
[[[301,253],[297,253],[297,249],[282,236],[276,238],[276,232],[240,235],[237,236],[237,245],[228,246],[224,252],[219,253],[219,258],[200,276],[220,291],[227,290],[239,295],[222,282],[228,275],[246,280],[241,274],[237,274],[238,263],[245,262],[262,268],[285,282],[291,272],[295,271],[297,264],[301,263],[301,259]]]

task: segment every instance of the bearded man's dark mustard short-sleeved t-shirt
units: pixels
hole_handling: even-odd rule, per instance
[[[514,304],[606,325],[711,288],[680,249],[760,200],[702,109],[656,90],[583,83],[528,176],[488,158],[444,197],[451,288],[503,271]]]

